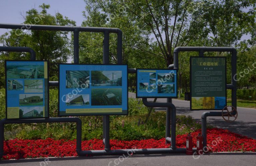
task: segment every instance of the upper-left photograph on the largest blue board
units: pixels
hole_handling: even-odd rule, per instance
[[[66,71],[66,88],[89,88],[90,72],[80,70]]]

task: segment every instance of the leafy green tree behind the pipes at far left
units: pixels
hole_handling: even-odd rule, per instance
[[[52,16],[47,13],[50,5],[42,4],[37,9],[30,9],[23,16],[24,24],[38,25],[62,25],[72,26],[75,22],[63,17],[60,13]],[[4,46],[31,47],[36,52],[37,60],[48,60],[50,64],[50,76],[57,75],[57,63],[66,63],[72,54],[70,50],[69,32],[41,31],[41,30],[16,30],[5,33],[0,37],[0,43]],[[27,53],[5,53],[4,59],[29,59]]]

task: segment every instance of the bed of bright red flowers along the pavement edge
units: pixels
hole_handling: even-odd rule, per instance
[[[196,136],[201,132],[192,133],[193,144],[196,147]],[[186,135],[177,135],[176,145],[178,148],[186,147]],[[223,129],[208,129],[207,142],[213,152],[227,151],[252,151],[256,152],[256,140],[232,133]],[[144,148],[168,148],[165,138],[160,140],[133,140],[118,141],[110,140],[111,149],[144,149]],[[77,156],[75,140],[19,140],[13,139],[4,142],[3,159],[38,158],[38,157],[67,157]],[[82,150],[103,150],[102,140],[93,139],[82,141]]]

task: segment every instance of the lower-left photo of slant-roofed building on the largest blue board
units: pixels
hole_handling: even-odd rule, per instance
[[[66,95],[67,106],[84,106],[90,104],[89,94]]]

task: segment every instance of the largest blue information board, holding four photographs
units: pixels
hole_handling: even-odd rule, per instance
[[[59,116],[127,115],[127,65],[59,64]]]

